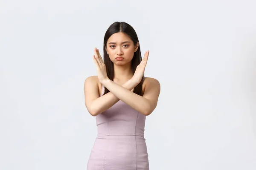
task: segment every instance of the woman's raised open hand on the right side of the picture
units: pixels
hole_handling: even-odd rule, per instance
[[[146,51],[142,61],[137,66],[136,71],[135,71],[135,73],[134,73],[134,75],[132,77],[132,79],[135,82],[137,82],[138,84],[140,83],[140,81],[141,81],[141,79],[143,77],[143,74],[144,74],[144,71],[145,71],[145,67],[146,67],[147,62],[148,62],[148,54],[149,54],[149,51]]]

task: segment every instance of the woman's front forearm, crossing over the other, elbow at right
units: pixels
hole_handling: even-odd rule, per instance
[[[133,84],[134,87],[137,85],[137,83],[133,82],[132,79],[129,81],[131,81],[131,84]],[[145,97],[129,91],[121,85],[111,81],[110,79],[107,79],[102,84],[108,88],[108,90],[114,96],[125,102],[127,105],[131,106],[131,108],[134,108],[136,111],[144,115],[147,115],[150,112],[150,102]]]

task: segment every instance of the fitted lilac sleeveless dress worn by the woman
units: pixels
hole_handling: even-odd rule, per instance
[[[102,85],[102,96],[104,86]],[[87,170],[149,170],[144,138],[146,116],[119,100],[96,116],[98,135]]]

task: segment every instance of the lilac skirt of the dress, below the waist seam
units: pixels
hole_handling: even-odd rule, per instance
[[[145,138],[137,135],[97,137],[87,170],[149,170]]]

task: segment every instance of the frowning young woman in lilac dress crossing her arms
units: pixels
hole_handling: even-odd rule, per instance
[[[104,60],[94,49],[97,76],[84,82],[85,105],[98,129],[87,170],[149,170],[145,118],[160,94],[157,79],[144,77],[149,51],[142,59],[137,34],[124,22],[108,28],[103,51]]]

